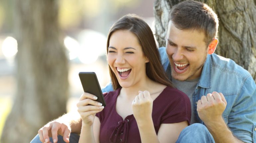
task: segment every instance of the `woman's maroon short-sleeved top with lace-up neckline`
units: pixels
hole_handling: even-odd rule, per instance
[[[116,112],[120,89],[104,94],[106,107],[96,116],[100,121],[100,143],[141,143],[137,122],[133,115],[124,120]],[[156,133],[161,124],[171,124],[191,119],[189,97],[182,91],[166,87],[153,101],[152,119]]]

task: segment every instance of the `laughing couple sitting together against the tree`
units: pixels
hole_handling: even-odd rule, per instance
[[[158,53],[143,20],[119,19],[108,35],[112,85],[102,89],[108,91],[107,106],[84,93],[77,104],[81,118],[68,113],[48,123],[32,143],[49,142],[49,136],[70,143],[256,142],[256,85],[246,70],[213,54],[216,14],[205,4],[185,1],[172,8],[169,20],[167,44]]]

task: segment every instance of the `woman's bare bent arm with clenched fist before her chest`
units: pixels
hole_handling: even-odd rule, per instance
[[[161,124],[158,135],[152,120],[153,100],[148,91],[140,92],[132,103],[142,143],[175,143],[188,122]]]

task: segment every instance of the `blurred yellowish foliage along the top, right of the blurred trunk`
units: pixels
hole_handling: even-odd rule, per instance
[[[82,19],[116,14],[120,8],[134,8],[141,0],[60,0],[59,23],[62,29],[76,27]],[[106,7],[106,8],[105,8]]]

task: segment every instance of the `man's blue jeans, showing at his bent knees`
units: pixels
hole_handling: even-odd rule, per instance
[[[71,133],[69,143],[78,143],[79,135]],[[53,139],[50,138],[53,143]],[[41,143],[37,135],[30,143]],[[65,143],[62,136],[58,136],[58,143]],[[208,129],[199,123],[192,124],[182,130],[176,143],[215,143]]]

